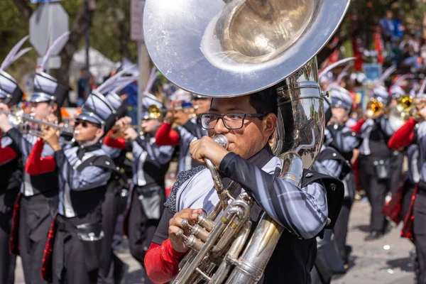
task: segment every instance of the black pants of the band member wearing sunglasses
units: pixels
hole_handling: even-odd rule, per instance
[[[102,251],[99,241],[99,250],[87,250],[78,236],[75,227],[80,224],[102,224],[101,206],[92,212],[80,217],[65,218],[58,215],[58,230],[55,234],[53,246],[53,283],[54,284],[97,284],[99,266],[89,269],[87,260],[97,258]],[[65,224],[65,229],[60,229],[59,223]],[[95,244],[94,241],[87,243]]]

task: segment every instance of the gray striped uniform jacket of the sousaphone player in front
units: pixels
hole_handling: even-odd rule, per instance
[[[268,215],[292,234],[300,239],[312,239],[322,231],[327,220],[326,190],[317,182],[298,188],[280,180],[274,175],[280,168],[280,159],[277,157],[271,158],[263,168],[258,168],[239,155],[228,153],[219,170],[238,182]],[[182,175],[190,175],[191,178],[183,178],[185,182],[182,185],[175,183],[175,197],[173,200],[169,198],[166,207],[175,212],[185,208],[204,208],[212,212],[219,198],[209,170],[198,167]]]

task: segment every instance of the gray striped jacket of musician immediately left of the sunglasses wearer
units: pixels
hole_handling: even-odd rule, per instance
[[[18,151],[21,152],[22,165],[25,169],[28,155],[30,155],[38,137],[31,134],[23,135],[18,131],[18,129],[14,128],[8,131],[6,135],[12,139],[18,147]],[[52,155],[53,149],[48,144],[45,144],[43,151],[41,152],[41,157],[44,158]],[[33,196],[41,192],[48,192],[51,190],[58,190],[58,175],[55,171],[41,175],[29,175],[25,170],[23,170],[21,193],[24,196]]]

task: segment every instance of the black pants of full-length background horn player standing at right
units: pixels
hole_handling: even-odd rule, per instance
[[[381,209],[389,191],[389,179],[378,180],[376,178],[376,168],[373,165],[373,158],[370,156],[360,157],[359,178],[371,205],[370,230],[384,232],[388,222],[381,213]]]

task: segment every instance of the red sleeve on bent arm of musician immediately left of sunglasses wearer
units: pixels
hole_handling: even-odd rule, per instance
[[[42,173],[53,172],[56,168],[56,162],[53,155],[41,158],[43,151],[44,141],[38,138],[34,144],[33,150],[28,155],[28,160],[25,165],[25,171],[30,175],[40,175]]]

